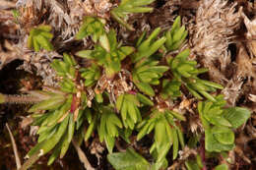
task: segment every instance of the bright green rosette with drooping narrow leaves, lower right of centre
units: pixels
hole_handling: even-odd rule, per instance
[[[177,157],[179,142],[184,146],[184,139],[180,127],[174,122],[174,117],[185,120],[184,117],[171,110],[160,111],[153,110],[148,119],[143,120],[139,125],[140,129],[137,141],[145,135],[150,134],[155,129],[154,143],[150,152],[157,153],[157,162],[161,162],[168,152],[170,146],[173,146],[173,159]]]

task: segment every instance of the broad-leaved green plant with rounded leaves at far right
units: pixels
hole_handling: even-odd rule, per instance
[[[232,129],[245,123],[250,112],[240,107],[224,109],[223,95],[218,95],[215,99],[215,102],[199,102],[198,112],[205,129],[206,150],[220,152],[234,147]]]

